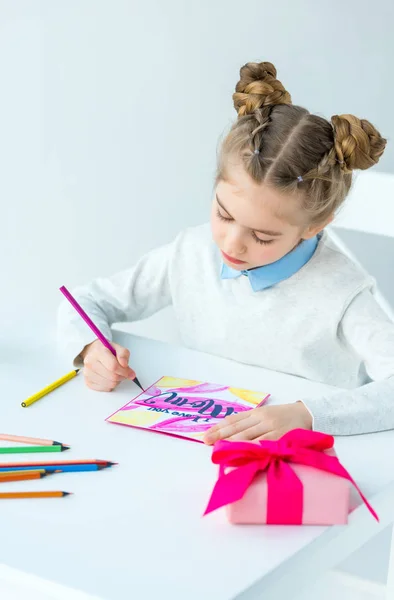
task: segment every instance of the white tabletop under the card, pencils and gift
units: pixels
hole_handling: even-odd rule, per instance
[[[327,390],[121,332],[115,340],[130,348],[144,385],[172,375],[269,391],[273,402]],[[119,465],[29,483],[29,489],[75,492],[63,500],[2,502],[0,564],[105,600],[283,600],[293,597],[295,582],[301,591],[393,520],[394,432],[336,441],[380,524],[360,507],[347,527],[231,526],[224,511],[201,518],[216,478],[210,448],[104,421],[138,392],[132,382],[97,393],[81,374],[20,407],[68,368],[50,344],[0,339],[0,429],[69,443],[64,458]],[[26,482],[12,485],[26,488]]]

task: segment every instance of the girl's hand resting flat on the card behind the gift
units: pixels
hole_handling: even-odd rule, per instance
[[[292,429],[312,429],[312,416],[302,402],[261,406],[226,417],[208,429],[206,444],[218,440],[277,440]]]

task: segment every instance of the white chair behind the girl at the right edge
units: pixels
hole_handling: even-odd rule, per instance
[[[375,277],[377,300],[394,319],[394,175],[378,171],[359,173],[344,208],[329,229],[342,250]],[[346,562],[345,568],[351,566],[357,576],[343,576],[340,571],[332,574],[337,581],[339,577],[349,594],[358,589],[360,598],[364,598],[361,594],[366,594],[367,590],[368,598],[394,598],[394,534],[391,537],[387,586],[359,577],[379,570],[374,568],[374,561],[377,565],[384,560],[384,553],[390,545],[390,531],[383,533],[380,547],[370,542],[362,555],[358,557],[356,553]],[[369,546],[373,546],[370,552]],[[343,593],[343,597],[347,598],[345,590]]]

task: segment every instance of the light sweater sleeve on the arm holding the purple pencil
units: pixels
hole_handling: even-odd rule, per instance
[[[175,243],[152,250],[127,270],[97,278],[71,291],[108,340],[112,339],[113,323],[147,318],[172,303],[169,272]],[[64,299],[57,313],[60,352],[74,367],[80,367],[80,353],[95,339],[95,334]]]

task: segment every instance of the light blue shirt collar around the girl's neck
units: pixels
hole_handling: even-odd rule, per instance
[[[246,275],[249,278],[253,291],[259,292],[297,273],[312,257],[318,241],[319,238],[317,236],[309,240],[304,240],[294,250],[285,254],[285,256],[282,256],[276,262],[248,271],[236,271],[223,263],[221,278],[236,279],[241,275]]]

